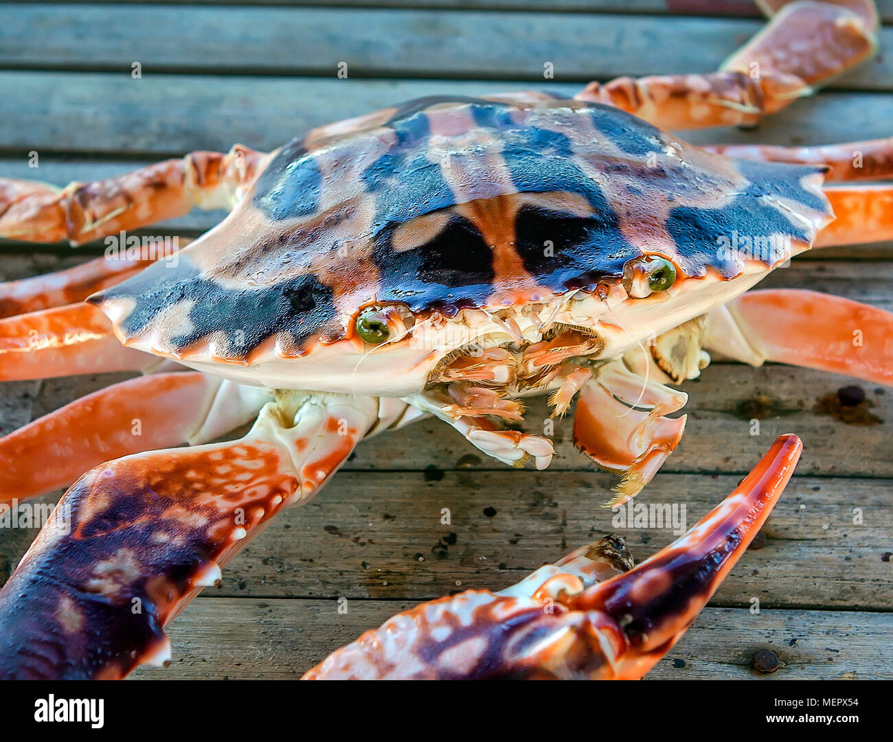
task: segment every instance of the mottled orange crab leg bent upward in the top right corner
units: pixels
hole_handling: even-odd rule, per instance
[[[807,0],[776,13],[718,72],[593,82],[574,97],[665,129],[754,126],[876,51],[874,29],[860,14]]]

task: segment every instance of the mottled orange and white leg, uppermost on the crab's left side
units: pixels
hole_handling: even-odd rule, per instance
[[[189,153],[61,189],[0,178],[0,237],[80,244],[179,217],[196,206],[231,210],[254,182],[264,157],[236,144],[227,154]]]

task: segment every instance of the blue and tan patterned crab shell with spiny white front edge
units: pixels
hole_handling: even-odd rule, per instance
[[[545,94],[416,100],[314,129],[262,168],[176,263],[91,298],[122,342],[243,383],[403,396],[468,343],[537,342],[545,318],[616,356],[743,292],[832,218],[821,168],[705,153]],[[785,247],[729,249],[741,235]],[[643,255],[672,261],[670,291],[624,291]],[[370,305],[408,319],[395,342],[356,337]]]

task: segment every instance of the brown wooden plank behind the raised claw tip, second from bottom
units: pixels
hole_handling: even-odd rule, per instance
[[[392,442],[405,445],[403,438]],[[761,452],[771,440],[762,442]],[[755,460],[741,454],[737,466]],[[641,559],[694,525],[740,478],[662,472],[637,502],[671,507],[675,521],[626,528],[622,515],[602,507],[611,474],[418,471],[424,466],[432,462],[417,461],[411,472],[338,473],[317,499],[281,515],[249,545],[213,594],[430,599],[459,585],[502,589],[612,532]],[[764,607],[890,610],[890,504],[889,480],[797,475],[764,526],[765,545],[748,551],[714,605],[757,598]],[[4,531],[0,576],[35,535]]]

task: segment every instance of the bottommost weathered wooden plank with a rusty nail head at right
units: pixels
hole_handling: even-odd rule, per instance
[[[173,662],[133,678],[295,679],[333,649],[408,606],[397,601],[199,598],[171,625]],[[648,680],[890,679],[891,614],[706,608]],[[783,663],[772,675],[750,667],[759,649]]]

